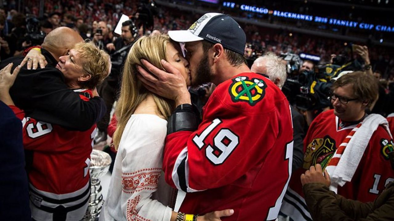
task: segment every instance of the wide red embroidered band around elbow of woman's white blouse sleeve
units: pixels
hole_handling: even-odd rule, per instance
[[[161,168],[141,169],[134,173],[122,173],[122,190],[134,193],[141,190],[157,190]]]

